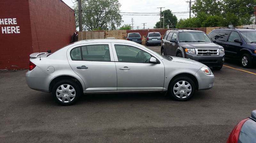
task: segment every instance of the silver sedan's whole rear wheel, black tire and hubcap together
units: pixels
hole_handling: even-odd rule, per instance
[[[52,95],[55,101],[61,105],[72,105],[80,97],[81,89],[72,80],[61,80],[52,88]]]

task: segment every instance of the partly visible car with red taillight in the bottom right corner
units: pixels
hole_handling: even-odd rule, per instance
[[[253,143],[256,141],[256,110],[252,117],[239,122],[230,133],[227,143]]]

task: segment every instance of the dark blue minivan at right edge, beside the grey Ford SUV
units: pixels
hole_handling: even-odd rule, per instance
[[[219,28],[210,32],[209,37],[224,47],[227,58],[239,59],[244,68],[256,63],[255,29]]]

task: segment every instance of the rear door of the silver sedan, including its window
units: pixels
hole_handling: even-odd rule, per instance
[[[73,71],[83,79],[86,92],[117,90],[116,64],[110,43],[72,46],[67,57]]]

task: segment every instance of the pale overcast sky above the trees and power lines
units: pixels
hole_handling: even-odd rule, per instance
[[[63,0],[68,6],[73,7],[75,0],[73,2],[71,0]],[[170,9],[172,12],[180,12],[180,11],[189,11],[188,0],[119,0],[119,3],[122,5],[120,8],[121,12],[140,12],[140,13],[156,13],[160,12],[160,9],[157,7],[165,7],[162,9],[167,10]],[[193,4],[193,3],[192,3]],[[188,18],[189,13],[185,14],[175,14],[178,19],[180,18]],[[191,14],[193,15],[193,13]],[[134,19],[134,29],[136,26],[140,26],[139,29],[143,29],[143,25],[141,23],[147,23],[146,28],[153,28],[157,21],[159,21],[160,16],[135,16],[135,15],[123,15],[122,16],[124,24],[131,24]]]

